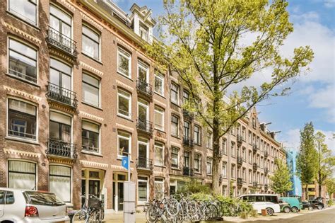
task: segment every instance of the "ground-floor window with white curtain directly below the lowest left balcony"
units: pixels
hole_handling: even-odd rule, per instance
[[[49,166],[49,191],[66,203],[71,202],[71,168]]]

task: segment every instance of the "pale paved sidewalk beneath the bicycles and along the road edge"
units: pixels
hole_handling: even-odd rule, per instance
[[[328,207],[324,210],[329,210],[329,209],[335,209],[335,206],[333,207]],[[240,217],[223,217],[224,221],[221,222],[247,222],[247,221],[258,221],[258,220],[265,220],[265,221],[271,221],[274,219],[289,219],[291,217],[296,217],[299,215],[305,215],[307,213],[316,213],[316,212],[322,212],[323,210],[302,210],[301,212],[298,213],[275,213],[273,216],[261,216],[258,215],[258,217],[249,217],[248,219],[242,219]],[[141,212],[141,213],[136,213],[136,223],[146,223],[146,213]],[[118,213],[110,213],[105,215],[105,220],[103,222],[106,223],[122,223],[123,222],[123,212],[118,212]],[[217,222],[219,223],[219,222]]]

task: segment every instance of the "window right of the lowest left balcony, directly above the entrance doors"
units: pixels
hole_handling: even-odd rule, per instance
[[[82,122],[81,143],[83,150],[99,152],[100,126],[92,122]]]

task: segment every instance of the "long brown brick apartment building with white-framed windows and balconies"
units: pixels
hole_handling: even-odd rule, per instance
[[[127,15],[102,0],[3,3],[1,187],[50,190],[74,208],[81,194],[101,195],[122,210],[128,152],[137,205],[191,178],[211,184],[211,132],[183,112],[177,76],[141,50],[155,25],[146,6]],[[224,195],[272,193],[274,159],[286,153],[255,109],[221,144]]]

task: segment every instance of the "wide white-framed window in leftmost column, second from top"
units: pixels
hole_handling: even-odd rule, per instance
[[[8,74],[37,83],[37,51],[13,39],[8,41]]]

